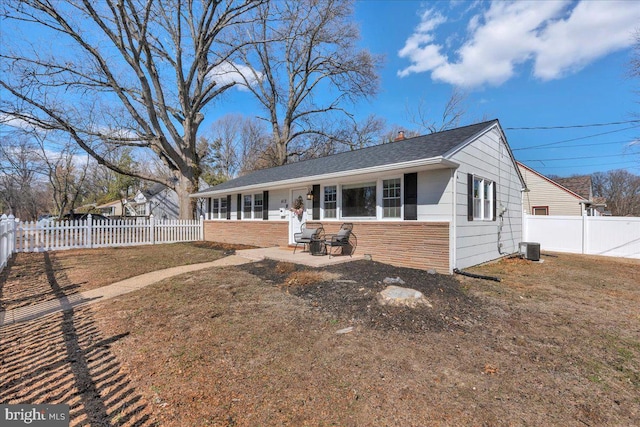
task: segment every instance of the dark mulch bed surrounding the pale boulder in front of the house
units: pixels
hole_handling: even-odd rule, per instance
[[[453,276],[429,274],[424,270],[394,267],[375,261],[353,261],[323,269],[264,260],[247,264],[243,270],[296,295],[318,310],[341,320],[378,330],[406,333],[464,330],[476,324],[485,310],[478,298],[469,295]],[[327,272],[338,278],[295,281],[301,272]],[[400,278],[399,285],[422,292],[433,305],[405,308],[382,306],[377,295],[388,285],[385,278]],[[302,282],[302,283],[300,283]],[[311,282],[311,283],[306,283]]]

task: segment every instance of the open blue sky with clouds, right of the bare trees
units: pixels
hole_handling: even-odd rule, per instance
[[[459,87],[463,124],[498,118],[516,159],[543,174],[640,174],[640,79],[629,78],[640,1],[360,0],[355,18],[362,46],[386,58],[360,116],[411,128],[407,109],[422,101],[437,119]]]

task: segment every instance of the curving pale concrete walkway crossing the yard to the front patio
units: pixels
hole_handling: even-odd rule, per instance
[[[211,262],[200,264],[182,265],[178,267],[166,268],[164,270],[152,271],[121,280],[108,286],[92,289],[86,292],[79,292],[64,298],[45,301],[25,307],[14,308],[7,311],[0,311],[0,327],[14,323],[27,322],[39,319],[43,316],[61,311],[70,310],[74,307],[81,307],[87,304],[101,302],[109,298],[114,298],[129,292],[137,291],[146,286],[157,283],[169,277],[179,274],[190,273],[211,267],[225,267],[231,265],[241,265],[249,262],[260,261],[265,258],[277,261],[293,262],[304,264],[310,267],[324,267],[326,265],[338,264],[342,262],[354,261],[362,257],[338,256],[312,256],[308,252],[296,252],[286,248],[260,248],[236,251],[236,255],[227,256]]]

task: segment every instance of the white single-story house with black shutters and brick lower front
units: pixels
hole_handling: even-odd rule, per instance
[[[518,252],[524,190],[491,120],[258,170],[191,197],[206,200],[205,240],[287,246],[307,221],[327,234],[349,222],[357,253],[451,273]]]

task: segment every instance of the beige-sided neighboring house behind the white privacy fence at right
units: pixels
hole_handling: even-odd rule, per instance
[[[524,195],[523,209],[530,215],[601,214],[604,200],[593,197],[591,177],[550,179],[517,162],[529,191]]]

